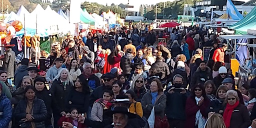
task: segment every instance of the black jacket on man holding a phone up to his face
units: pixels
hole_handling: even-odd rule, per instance
[[[182,94],[180,92],[168,93],[166,89],[166,109],[165,113],[168,119],[185,120],[185,105],[187,93]]]

